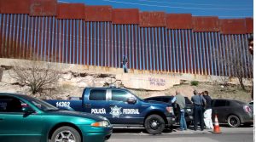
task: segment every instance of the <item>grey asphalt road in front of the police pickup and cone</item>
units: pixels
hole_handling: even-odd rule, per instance
[[[220,127],[221,133],[213,130],[165,131],[160,135],[145,133],[143,128],[118,128],[108,142],[253,142],[253,126],[250,128]]]

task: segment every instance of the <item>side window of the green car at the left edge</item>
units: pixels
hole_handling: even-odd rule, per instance
[[[21,104],[15,97],[0,96],[0,112],[22,112]]]

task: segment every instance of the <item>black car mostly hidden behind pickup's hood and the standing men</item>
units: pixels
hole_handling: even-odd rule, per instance
[[[156,96],[156,97],[149,97],[149,98],[146,98],[144,100],[147,100],[147,101],[161,101],[161,102],[166,102],[166,103],[171,103],[172,99],[173,99],[174,96]],[[185,107],[185,119],[186,119],[186,122],[187,122],[187,125],[189,126],[190,124],[192,124],[193,122],[193,105],[192,105],[192,102],[189,100],[188,97],[185,97],[185,102],[186,102],[186,107]],[[174,113],[176,115],[176,119],[178,118],[177,117],[177,107],[175,107],[174,104],[172,104],[173,108],[174,108]],[[178,122],[178,121],[176,121]]]

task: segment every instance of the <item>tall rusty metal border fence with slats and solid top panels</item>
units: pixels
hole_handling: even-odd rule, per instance
[[[0,3],[0,58],[35,54],[44,61],[119,68],[125,55],[130,69],[230,77],[234,71],[219,59],[236,56],[231,42],[236,41],[242,63],[253,65],[247,50],[252,18],[219,20],[55,0],[26,0],[22,9],[15,9],[19,0]]]

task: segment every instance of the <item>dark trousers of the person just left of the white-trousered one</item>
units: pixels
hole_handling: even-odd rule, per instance
[[[194,130],[197,130],[198,122],[201,130],[204,130],[203,108],[201,105],[194,105]]]

